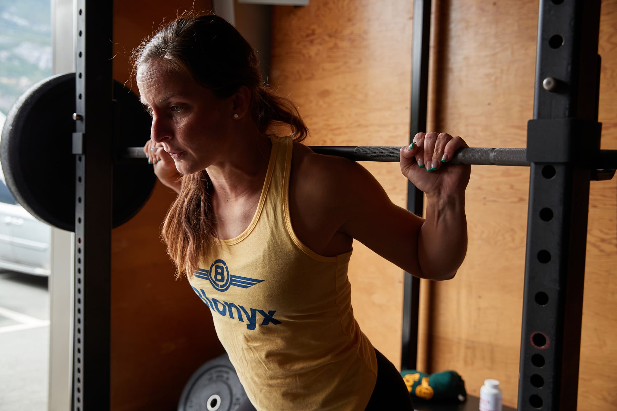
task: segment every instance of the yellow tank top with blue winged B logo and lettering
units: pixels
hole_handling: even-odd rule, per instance
[[[347,265],[294,234],[288,188],[291,137],[270,137],[255,216],[238,237],[200,259],[191,287],[260,411],[364,410],[375,387],[375,351],[351,306]]]

